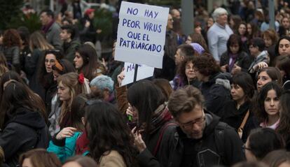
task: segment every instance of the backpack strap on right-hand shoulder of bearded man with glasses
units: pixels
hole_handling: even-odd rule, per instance
[[[221,159],[223,160],[225,157],[225,129],[228,124],[224,122],[219,122],[217,124],[216,128],[214,129],[214,140],[216,143],[217,152],[219,152],[219,155],[221,156]]]

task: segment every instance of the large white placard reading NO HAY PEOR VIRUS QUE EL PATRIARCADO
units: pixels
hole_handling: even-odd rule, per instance
[[[122,1],[115,59],[162,68],[169,8]]]

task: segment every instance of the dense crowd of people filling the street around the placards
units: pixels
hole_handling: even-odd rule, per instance
[[[125,86],[118,43],[102,59],[77,2],[0,31],[0,166],[290,166],[286,1],[275,29],[266,10],[219,7],[188,36],[170,9],[163,68]]]

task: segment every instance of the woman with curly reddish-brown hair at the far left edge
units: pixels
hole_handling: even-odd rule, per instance
[[[7,63],[12,65],[16,72],[20,73],[22,64],[20,62],[21,37],[16,29],[4,31],[3,45]]]

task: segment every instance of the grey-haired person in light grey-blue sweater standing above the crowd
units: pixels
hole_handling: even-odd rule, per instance
[[[228,12],[224,8],[216,8],[212,13],[214,25],[207,31],[207,40],[209,52],[212,54],[217,63],[221,59],[223,52],[226,52],[226,43],[231,34],[232,29],[228,26]]]

